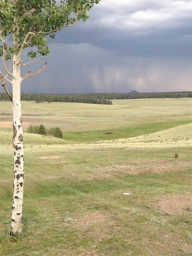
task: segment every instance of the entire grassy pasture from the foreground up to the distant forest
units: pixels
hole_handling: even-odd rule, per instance
[[[190,98],[22,101],[23,236],[9,241],[12,109],[0,102],[0,255],[192,254],[191,107]],[[63,139],[26,133],[40,124]]]

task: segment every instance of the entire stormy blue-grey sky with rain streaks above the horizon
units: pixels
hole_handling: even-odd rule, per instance
[[[85,23],[56,34],[46,68],[21,91],[191,91],[191,9],[190,0],[101,0]]]

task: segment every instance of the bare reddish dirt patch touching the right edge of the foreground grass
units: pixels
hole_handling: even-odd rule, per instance
[[[156,206],[173,214],[187,213],[192,216],[192,195],[174,194],[156,197]]]

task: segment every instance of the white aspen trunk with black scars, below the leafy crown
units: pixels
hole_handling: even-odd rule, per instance
[[[23,207],[23,130],[21,116],[21,100],[20,100],[20,65],[16,54],[13,55],[13,148],[14,148],[14,168],[13,168],[13,204],[10,236],[18,235],[21,237],[21,219]]]

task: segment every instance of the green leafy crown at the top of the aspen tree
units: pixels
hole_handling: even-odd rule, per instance
[[[46,35],[52,39],[55,33],[78,21],[86,21],[89,9],[100,0],[1,0],[0,1],[0,40],[13,40],[8,47],[6,59],[12,53],[17,55],[22,49],[29,48],[28,56],[36,57],[37,53],[46,56],[50,53],[46,45]],[[37,47],[37,52],[32,47]],[[3,46],[0,46],[0,56]]]

